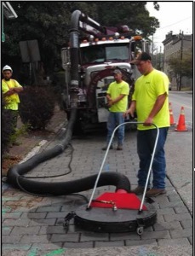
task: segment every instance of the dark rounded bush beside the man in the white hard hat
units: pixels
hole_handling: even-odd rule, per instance
[[[54,115],[54,96],[47,87],[27,86],[20,93],[20,118],[32,130],[44,130]]]

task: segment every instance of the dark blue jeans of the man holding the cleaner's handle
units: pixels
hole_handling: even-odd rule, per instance
[[[166,177],[166,161],[164,154],[164,143],[166,141],[169,127],[159,128],[158,144],[152,163],[153,181],[152,188],[164,189]],[[140,158],[140,170],[138,171],[138,184],[146,186],[146,177],[149,171],[154,143],[157,137],[157,129],[138,131],[137,133],[137,153]],[[150,180],[147,187],[150,187]]]

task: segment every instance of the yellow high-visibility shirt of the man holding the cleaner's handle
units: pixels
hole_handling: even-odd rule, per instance
[[[135,82],[135,91],[132,101],[136,102],[137,121],[144,122],[151,113],[154,103],[158,96],[167,94],[163,107],[153,118],[153,124],[158,128],[169,127],[169,79],[167,75],[157,69],[153,69],[151,73],[142,75]],[[155,126],[138,125],[138,130],[155,129]]]

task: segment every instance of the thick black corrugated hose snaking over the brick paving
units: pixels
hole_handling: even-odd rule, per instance
[[[22,177],[22,175],[31,171],[38,164],[45,160],[49,160],[64,151],[68,143],[71,141],[72,129],[76,116],[77,110],[72,109],[71,118],[67,125],[65,138],[61,141],[60,144],[56,145],[54,148],[45,150],[40,154],[32,156],[31,159],[26,160],[26,162],[22,164],[11,167],[8,172],[7,182],[11,183],[18,189],[24,189],[26,192],[38,195],[68,195],[88,189],[93,189],[97,177],[96,174],[89,177],[83,177],[79,180],[55,183],[34,181],[32,179],[28,179],[27,177]],[[101,173],[97,186],[100,187],[106,185],[113,185],[116,186],[117,190],[124,189],[127,192],[130,192],[129,179],[118,172]]]

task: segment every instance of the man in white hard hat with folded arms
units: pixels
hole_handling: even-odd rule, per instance
[[[23,87],[14,79],[11,79],[13,70],[8,65],[3,67],[3,79],[2,79],[2,93],[3,100],[5,101],[4,108],[9,113],[13,122],[13,132],[17,126],[18,117],[18,105],[20,103],[19,93],[23,90]]]

